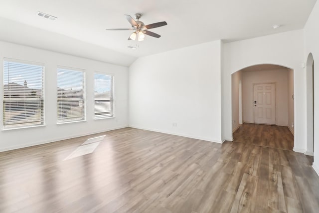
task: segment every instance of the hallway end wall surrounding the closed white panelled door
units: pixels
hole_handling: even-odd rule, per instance
[[[276,125],[288,126],[288,71],[256,70],[243,72],[243,122],[254,123],[254,84],[276,84]]]

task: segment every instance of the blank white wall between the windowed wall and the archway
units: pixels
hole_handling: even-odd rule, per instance
[[[136,60],[129,71],[129,126],[221,142],[220,61],[221,41]]]

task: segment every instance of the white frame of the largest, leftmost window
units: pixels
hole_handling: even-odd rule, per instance
[[[41,107],[39,108],[40,109],[40,119],[39,121],[30,121],[28,123],[18,123],[16,122],[15,124],[12,123],[12,124],[8,124],[8,125],[5,125],[5,122],[4,122],[4,117],[5,117],[5,102],[9,101],[10,102],[10,99],[5,99],[4,96],[5,96],[5,92],[4,92],[4,64],[5,62],[8,62],[8,63],[21,63],[21,64],[27,64],[27,65],[35,65],[35,66],[42,66],[42,88],[41,88],[41,96],[39,99],[37,99],[37,101],[40,101],[40,105]],[[2,130],[12,130],[12,129],[22,129],[22,128],[31,128],[31,127],[39,127],[39,126],[45,126],[45,97],[44,97],[44,94],[45,94],[45,91],[44,91],[44,88],[45,88],[45,64],[44,63],[40,63],[40,62],[33,62],[33,61],[26,61],[26,60],[18,60],[18,59],[12,59],[12,58],[3,58],[3,64],[2,64],[2,68],[3,68],[3,71],[2,71],[2,74],[3,74],[3,79],[2,79],[2,82],[3,82],[3,86],[2,86],[2,92],[3,92],[3,95],[2,95]],[[8,73],[9,75],[9,73]],[[8,76],[9,77],[9,76]],[[7,82],[7,84],[9,84],[10,82]],[[24,85],[23,85],[24,86]],[[32,89],[33,91],[33,89]],[[24,96],[23,97],[23,100],[26,100],[26,97]],[[29,100],[31,101],[31,100]],[[25,106],[25,104],[24,104]],[[25,110],[25,109],[24,109]]]

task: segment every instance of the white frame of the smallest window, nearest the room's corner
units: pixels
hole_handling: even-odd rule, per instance
[[[114,88],[115,88],[115,77],[114,77],[114,74],[111,74],[111,73],[104,73],[104,72],[94,72],[93,73],[93,77],[94,77],[94,119],[95,120],[99,120],[99,119],[107,119],[107,118],[115,118],[115,92],[114,92]],[[110,108],[111,108],[111,111],[113,111],[113,113],[110,113],[110,114],[101,114],[101,115],[96,115],[96,101],[98,100],[101,100],[101,99],[96,99],[95,95],[96,95],[96,91],[95,91],[95,74],[98,74],[98,75],[105,75],[105,76],[111,76],[112,78],[112,84],[111,84],[111,91],[110,91],[110,102],[113,103]]]

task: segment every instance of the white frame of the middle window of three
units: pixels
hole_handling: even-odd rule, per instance
[[[57,124],[65,124],[65,123],[75,123],[75,122],[83,122],[83,121],[86,121],[86,72],[84,69],[79,69],[79,68],[73,68],[73,67],[65,67],[65,66],[58,66],[57,67],[57,87],[56,89],[58,90],[58,83],[59,83],[59,76],[58,76],[58,73],[59,73],[59,69],[62,69],[62,70],[68,70],[68,71],[77,71],[77,72],[82,72],[83,73],[83,80],[82,80],[82,85],[83,85],[83,92],[82,92],[82,110],[83,110],[83,116],[82,117],[78,117],[78,118],[74,118],[74,119],[59,119],[59,92],[57,91]],[[78,101],[79,99],[71,99],[71,100],[75,100],[75,101]]]

